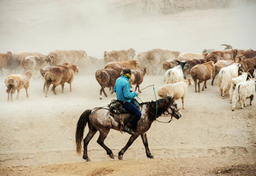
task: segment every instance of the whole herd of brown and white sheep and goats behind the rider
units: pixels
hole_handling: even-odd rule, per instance
[[[227,45],[230,46],[230,45]],[[53,84],[55,87],[61,85],[62,92],[64,84],[71,84],[78,72],[80,61],[86,65],[102,65],[102,69],[95,70],[95,79],[100,84],[100,99],[102,92],[105,97],[105,88],[113,91],[115,80],[120,77],[122,70],[129,67],[132,70],[132,77],[129,84],[136,85],[135,91],[142,84],[144,75],[164,75],[164,85],[159,87],[157,94],[159,97],[171,96],[174,99],[182,100],[184,109],[184,97],[188,87],[195,85],[195,92],[207,88],[206,82],[212,79],[213,85],[215,77],[218,75],[218,87],[220,94],[225,98],[229,94],[230,103],[233,104],[232,110],[239,101],[243,108],[246,99],[255,97],[255,70],[256,70],[256,51],[255,50],[206,50],[203,53],[180,53],[178,51],[162,50],[159,48],[138,53],[134,49],[111,50],[104,52],[104,59],[97,59],[87,55],[85,50],[53,50],[48,55],[41,53],[0,53],[0,69],[9,70],[12,73],[23,72],[22,74],[12,74],[6,77],[6,92],[8,101],[13,100],[13,94],[17,90],[17,99],[20,89],[26,89],[28,97],[29,80],[36,71],[40,71],[44,78],[43,90],[48,97],[48,89]],[[187,76],[190,75],[191,77]]]

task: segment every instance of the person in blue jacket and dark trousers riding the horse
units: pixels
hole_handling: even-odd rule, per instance
[[[124,68],[122,71],[122,76],[117,78],[114,84],[114,92],[117,93],[117,101],[119,101],[124,109],[129,111],[132,114],[132,119],[129,120],[126,126],[124,126],[123,131],[134,134],[132,128],[137,126],[137,121],[142,116],[142,112],[139,111],[137,106],[131,103],[134,97],[137,97],[139,92],[132,92],[130,90],[129,79],[132,76],[132,70],[129,68]]]

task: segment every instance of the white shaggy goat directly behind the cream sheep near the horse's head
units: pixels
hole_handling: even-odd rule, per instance
[[[164,73],[164,84],[173,84],[176,82],[181,82],[184,79],[183,67],[186,65],[186,62],[178,61],[178,65],[167,70]]]

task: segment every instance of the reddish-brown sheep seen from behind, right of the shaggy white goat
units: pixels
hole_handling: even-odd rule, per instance
[[[207,89],[206,82],[208,79],[210,79],[213,76],[213,65],[214,65],[213,61],[209,61],[203,64],[195,65],[194,67],[191,68],[190,74],[191,74],[191,77],[193,77],[193,81],[195,82],[195,92],[197,92],[196,90],[197,79],[198,79],[198,93],[200,92],[201,82],[204,82],[202,91],[204,91],[205,88]]]

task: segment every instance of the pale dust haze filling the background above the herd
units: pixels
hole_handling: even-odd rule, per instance
[[[0,1],[0,52],[256,49],[255,1]]]

